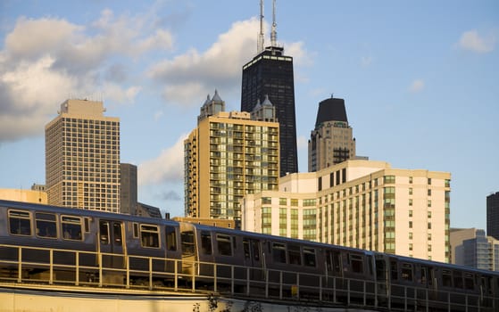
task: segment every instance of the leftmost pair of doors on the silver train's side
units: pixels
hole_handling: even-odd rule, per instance
[[[99,220],[99,251],[103,267],[123,268],[125,266],[125,245],[123,223],[115,220]]]

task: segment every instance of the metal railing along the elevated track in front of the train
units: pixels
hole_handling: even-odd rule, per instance
[[[318,306],[391,311],[496,311],[493,294],[185,259],[0,245],[0,281],[147,291],[218,293],[252,300],[306,301]]]

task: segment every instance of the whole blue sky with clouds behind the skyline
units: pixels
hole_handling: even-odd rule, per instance
[[[138,201],[184,214],[183,140],[217,89],[240,110],[258,0],[0,0],[0,188],[45,184],[45,125],[69,98],[121,119]],[[272,4],[264,6],[270,43]],[[499,192],[499,2],[277,1],[294,58],[298,166],[320,101],[345,99],[358,155],[445,171],[451,226]]]

